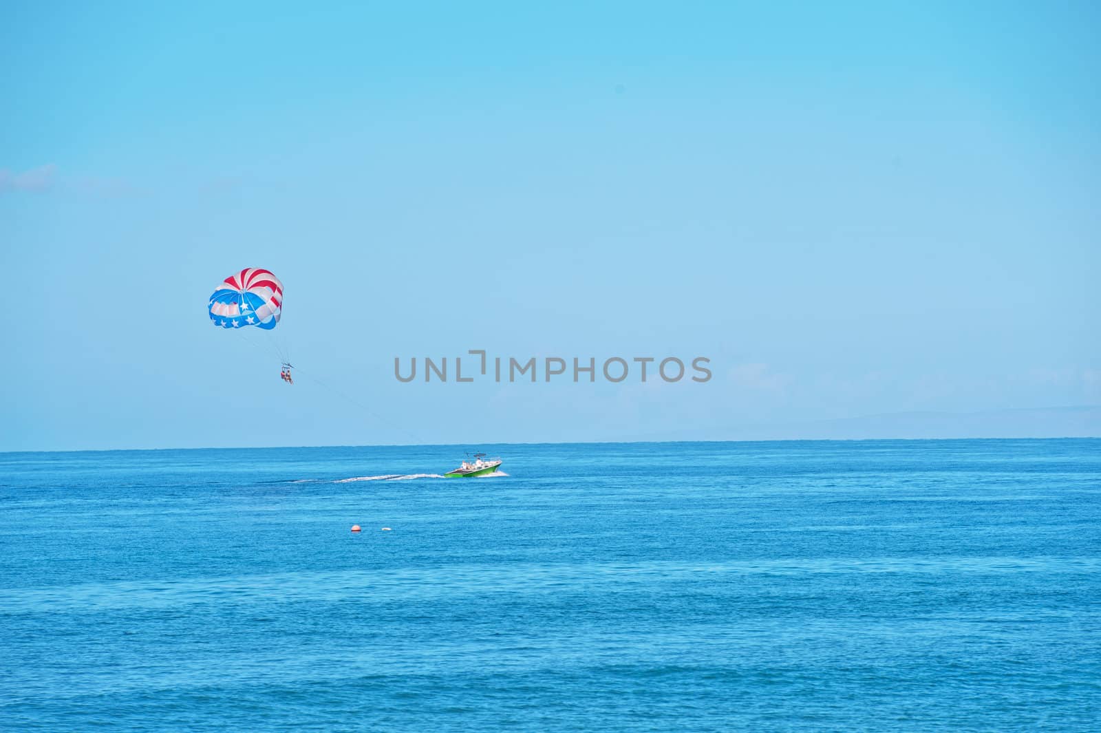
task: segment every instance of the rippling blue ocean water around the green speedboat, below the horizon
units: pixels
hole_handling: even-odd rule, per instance
[[[0,453],[0,729],[1101,730],[1101,440],[486,448]]]

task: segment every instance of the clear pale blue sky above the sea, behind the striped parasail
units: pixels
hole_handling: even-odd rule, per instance
[[[0,450],[1101,404],[1099,14],[6,3]],[[324,385],[210,327],[244,266]],[[393,378],[475,348],[715,376]]]

